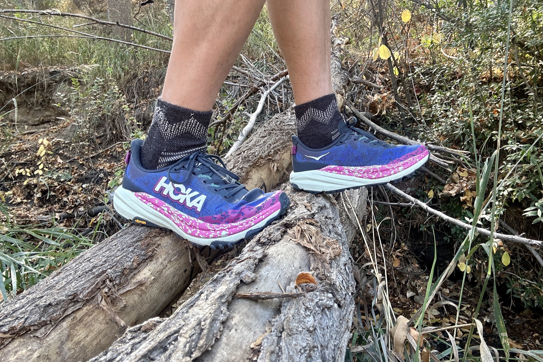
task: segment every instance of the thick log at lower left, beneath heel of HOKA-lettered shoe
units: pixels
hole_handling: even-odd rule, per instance
[[[0,338],[0,360],[97,355],[185,290],[198,272],[190,248],[172,233],[140,226],[93,246],[2,305],[0,333],[8,337]]]

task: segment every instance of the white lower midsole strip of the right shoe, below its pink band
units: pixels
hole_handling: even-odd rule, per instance
[[[346,174],[339,174],[320,170],[291,172],[291,183],[298,186],[298,188],[306,191],[314,192],[327,192],[342,189],[359,188],[362,186],[383,184],[393,180],[401,179],[404,176],[415,171],[426,163],[430,154],[411,167],[407,167],[398,173],[391,174],[390,176],[369,179],[355,176],[349,176]]]

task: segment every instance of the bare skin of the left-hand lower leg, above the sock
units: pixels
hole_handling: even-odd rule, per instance
[[[209,111],[265,0],[177,0],[162,99]]]

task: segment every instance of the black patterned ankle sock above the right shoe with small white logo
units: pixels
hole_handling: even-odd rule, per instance
[[[296,105],[298,138],[307,147],[322,148],[339,137],[338,123],[343,121],[335,94]]]

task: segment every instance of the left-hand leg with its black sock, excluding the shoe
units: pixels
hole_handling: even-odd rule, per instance
[[[211,108],[247,40],[263,0],[178,0],[162,97],[142,148],[160,168],[205,150]]]

